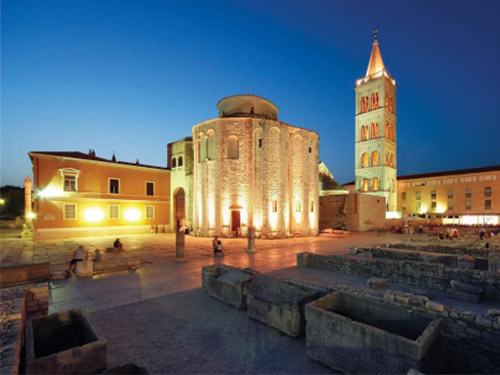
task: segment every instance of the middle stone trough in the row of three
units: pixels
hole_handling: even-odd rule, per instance
[[[304,306],[319,298],[321,291],[291,285],[270,276],[256,275],[247,284],[247,315],[266,323],[289,336],[304,333],[306,320]]]

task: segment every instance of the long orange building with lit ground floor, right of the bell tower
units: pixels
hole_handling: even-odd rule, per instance
[[[500,165],[400,176],[398,211],[443,223],[498,224]]]

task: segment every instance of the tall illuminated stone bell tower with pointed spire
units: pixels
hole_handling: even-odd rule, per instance
[[[397,210],[396,81],[387,72],[373,31],[366,75],[356,81],[355,191],[386,198]]]

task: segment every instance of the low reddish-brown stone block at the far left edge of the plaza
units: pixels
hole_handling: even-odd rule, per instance
[[[2,288],[23,284],[32,284],[50,279],[49,262],[21,264],[0,268],[0,286]]]

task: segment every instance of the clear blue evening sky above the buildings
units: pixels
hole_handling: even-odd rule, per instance
[[[398,174],[500,164],[498,0],[3,0],[1,180],[29,151],[165,166],[166,145],[247,92],[320,135],[354,178],[354,82],[372,29],[398,84]]]

